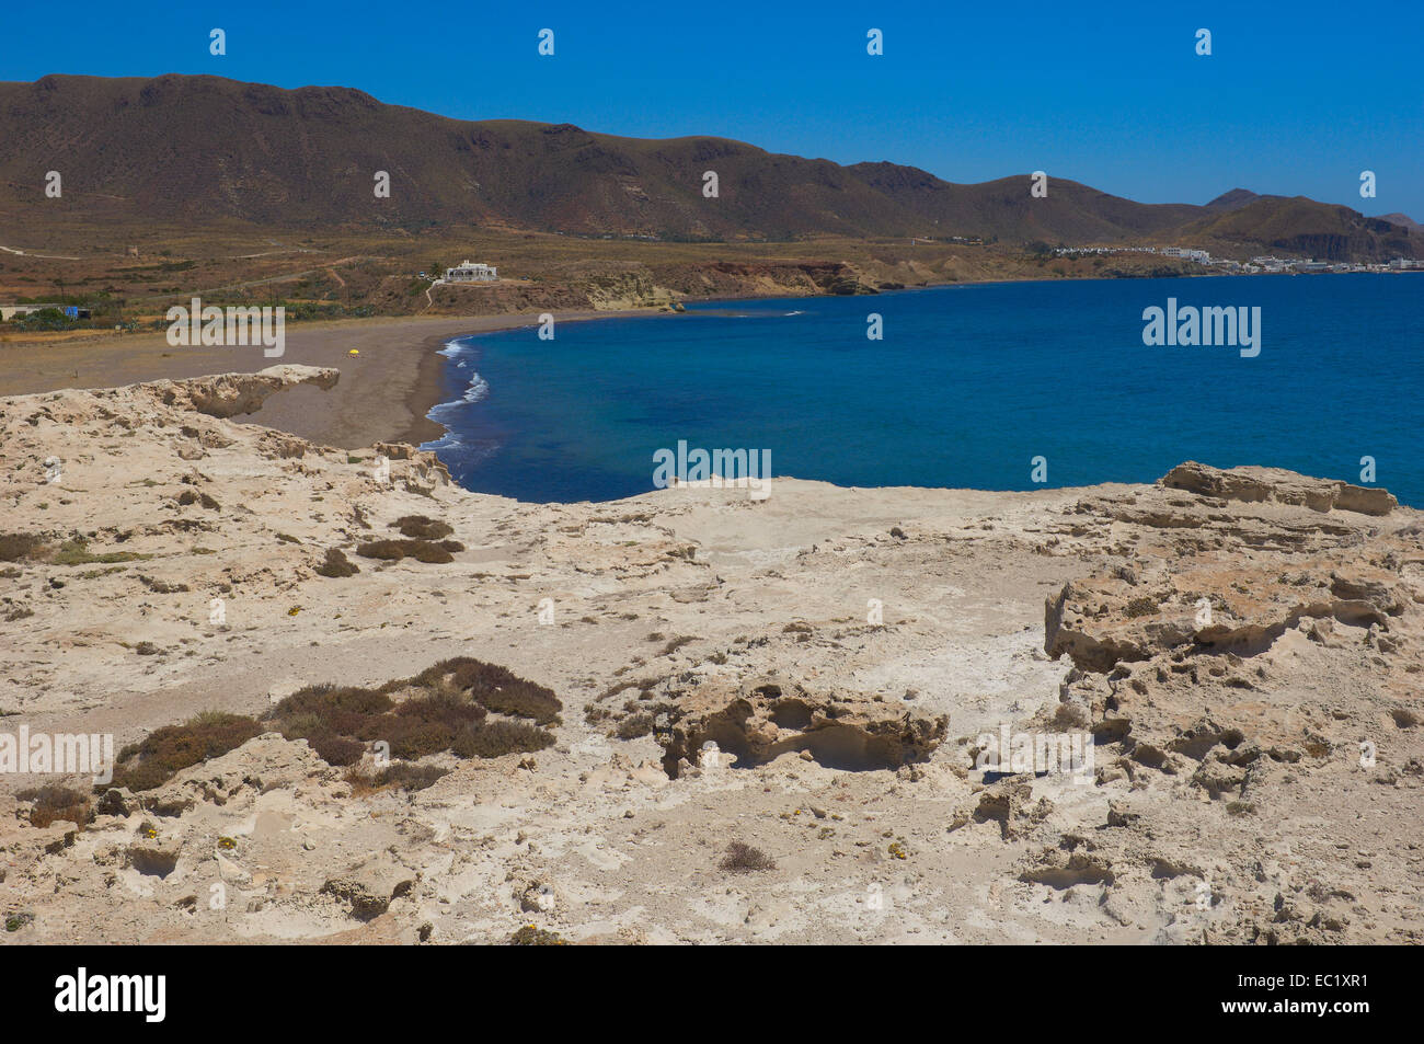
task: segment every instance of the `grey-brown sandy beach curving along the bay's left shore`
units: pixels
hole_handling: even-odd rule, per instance
[[[560,322],[662,312],[560,312]],[[437,355],[451,338],[533,325],[534,315],[346,319],[292,323],[286,353],[265,359],[261,348],[172,348],[162,333],[140,333],[68,345],[0,345],[0,397],[61,389],[115,387],[162,377],[249,373],[273,363],[339,369],[330,392],[296,387],[269,400],[261,423],[325,446],[360,449],[376,442],[420,444],[443,429],[426,419],[441,402]],[[356,349],[359,356],[347,352]]]

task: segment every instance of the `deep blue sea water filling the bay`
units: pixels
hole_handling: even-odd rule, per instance
[[[1260,306],[1257,357],[1148,348],[1142,310]],[[884,339],[866,338],[867,315]],[[1183,460],[1376,484],[1424,506],[1424,275],[988,283],[692,305],[451,342],[430,443],[530,501],[652,489],[658,449],[769,449],[840,486],[1152,481]]]

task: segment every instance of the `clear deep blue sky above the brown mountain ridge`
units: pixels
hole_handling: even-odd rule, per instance
[[[11,4],[0,78],[340,84],[451,117],[715,134],[950,181],[1044,169],[1145,202],[1243,187],[1424,221],[1424,0],[1078,6]],[[226,57],[208,53],[214,27]],[[866,54],[870,27],[883,57]],[[1202,27],[1210,57],[1195,54]]]

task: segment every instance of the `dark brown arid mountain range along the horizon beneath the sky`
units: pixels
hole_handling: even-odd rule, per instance
[[[726,138],[624,138],[570,124],[466,121],[345,87],[209,75],[47,75],[0,84],[0,215],[141,226],[514,229],[661,241],[968,236],[1152,242],[1226,256],[1424,256],[1404,215],[1233,189],[1205,207],[1139,204],[1030,174],[953,184],[914,167],[843,167]],[[60,171],[63,195],[46,197]],[[376,172],[390,175],[377,198]],[[718,195],[703,195],[715,171]],[[1407,222],[1407,224],[1405,224]]]

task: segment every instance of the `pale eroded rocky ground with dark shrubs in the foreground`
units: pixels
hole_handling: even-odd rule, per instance
[[[0,734],[134,745],[0,776],[0,939],[1424,941],[1383,490],[531,506],[235,420],[335,380],[0,400]]]

